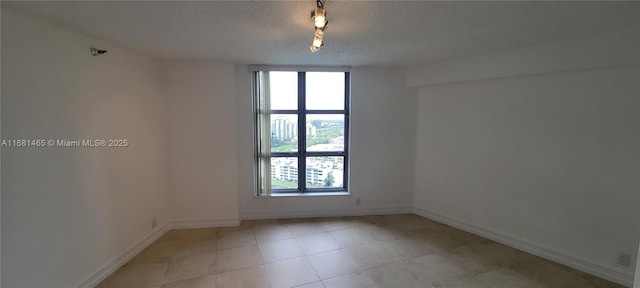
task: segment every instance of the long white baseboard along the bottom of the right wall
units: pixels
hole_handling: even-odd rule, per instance
[[[533,255],[569,266],[576,270],[580,270],[597,277],[616,282],[626,287],[631,287],[633,285],[633,274],[615,266],[595,263],[593,261],[582,259],[574,255],[569,255],[555,249],[543,247],[530,241],[518,239],[506,234],[492,231],[490,229],[465,223],[463,221],[447,217],[432,211],[414,208],[414,213],[416,215],[449,225],[451,227],[455,227],[460,230],[473,233],[478,236],[482,236],[484,238],[502,243],[504,245],[531,253]]]

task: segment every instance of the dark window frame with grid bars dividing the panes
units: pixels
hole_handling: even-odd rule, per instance
[[[277,72],[277,71],[291,71],[291,70],[262,70],[268,72]],[[257,75],[260,71],[253,71],[254,79],[257,79]],[[271,115],[296,115],[297,116],[297,134],[298,134],[298,149],[297,151],[287,151],[287,152],[271,152],[271,159],[274,158],[284,158],[284,157],[294,157],[298,159],[298,188],[280,188],[280,189],[271,189],[271,193],[273,195],[287,195],[287,194],[308,194],[308,193],[335,193],[335,192],[347,192],[349,191],[349,136],[350,136],[350,112],[351,112],[351,73],[350,71],[343,70],[323,70],[323,71],[294,71],[297,72],[297,81],[298,81],[298,97],[297,97],[297,109],[296,110],[283,110],[277,109],[272,110],[269,109]],[[332,110],[307,110],[306,109],[306,73],[308,72],[338,72],[344,73],[344,109],[332,109]],[[254,83],[257,83],[254,81]],[[257,87],[257,86],[256,86]],[[256,88],[254,87],[254,90]],[[254,91],[252,97],[255,98],[257,96],[257,91]],[[255,109],[254,105],[254,109]],[[256,111],[257,113],[257,111]],[[307,134],[306,134],[306,123],[308,115],[344,115],[344,149],[342,151],[307,151]],[[257,116],[257,115],[254,115]],[[257,119],[254,118],[254,125],[257,124]],[[254,133],[256,134],[257,139],[260,139],[261,135],[258,129],[254,128]],[[257,147],[255,147],[255,151]],[[343,175],[342,175],[342,186],[341,187],[327,187],[327,188],[308,188],[307,187],[307,158],[308,157],[342,157],[343,159]],[[256,158],[258,159],[258,158]],[[255,169],[255,177],[254,180],[258,180],[260,175],[260,170]],[[272,175],[273,176],[273,175]],[[257,186],[257,185],[256,185]],[[256,187],[259,189],[259,187]]]

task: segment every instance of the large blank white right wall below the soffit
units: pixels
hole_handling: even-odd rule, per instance
[[[558,66],[565,44],[413,67],[416,212],[631,285],[633,265],[615,261],[640,239],[640,50],[602,59],[619,60],[606,54],[619,43],[587,53],[604,63],[593,69]],[[509,59],[535,69],[503,73]],[[458,78],[465,66],[475,72]]]

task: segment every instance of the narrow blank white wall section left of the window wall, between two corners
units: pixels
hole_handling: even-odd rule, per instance
[[[234,66],[163,61],[161,68],[171,217],[177,227],[237,224]]]

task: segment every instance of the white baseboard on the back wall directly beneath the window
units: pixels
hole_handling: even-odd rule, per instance
[[[362,209],[323,209],[305,211],[269,211],[244,212],[242,220],[309,218],[309,217],[341,217],[365,215],[413,214],[412,206],[372,207]]]

